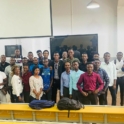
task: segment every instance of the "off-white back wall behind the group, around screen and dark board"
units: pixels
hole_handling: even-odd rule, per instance
[[[117,45],[117,0],[98,0],[101,7],[89,10],[90,0],[52,0],[53,35],[98,34],[100,56],[109,51],[115,57]],[[22,45],[23,56],[37,49],[50,50],[49,38],[1,40],[0,54],[4,45]],[[118,47],[117,47],[118,46]]]

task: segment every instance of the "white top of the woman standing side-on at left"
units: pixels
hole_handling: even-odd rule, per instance
[[[22,80],[20,79],[20,77],[17,75],[13,75],[11,84],[12,84],[12,94],[16,95],[17,97],[20,96],[20,94],[23,91]]]

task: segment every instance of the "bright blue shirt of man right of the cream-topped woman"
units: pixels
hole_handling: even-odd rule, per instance
[[[53,78],[53,70],[50,70],[50,68],[44,68],[42,69],[41,76],[43,78],[43,90],[48,90],[51,84],[51,79]]]

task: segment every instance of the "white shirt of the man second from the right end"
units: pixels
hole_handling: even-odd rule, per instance
[[[109,64],[106,64],[105,62],[102,62],[101,63],[101,68],[103,68],[109,76],[109,79],[110,79],[109,86],[113,86],[114,79],[117,79],[117,71],[116,71],[115,64],[112,63],[112,62],[109,62]]]

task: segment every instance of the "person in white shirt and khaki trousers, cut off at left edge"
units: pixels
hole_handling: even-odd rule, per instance
[[[0,101],[6,102],[6,94],[3,93],[2,88],[6,85],[6,74],[0,71]]]

